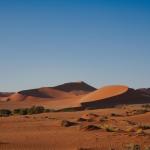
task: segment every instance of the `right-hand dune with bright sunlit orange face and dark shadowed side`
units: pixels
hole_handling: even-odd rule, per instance
[[[150,97],[127,86],[106,86],[81,98],[83,107],[113,107],[120,104],[150,103]]]

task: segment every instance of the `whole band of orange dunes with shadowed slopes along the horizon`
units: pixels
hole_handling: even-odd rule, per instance
[[[0,108],[32,105],[48,108],[106,108],[122,104],[150,103],[150,89],[134,90],[124,85],[96,89],[85,82],[71,82],[17,93],[0,93],[0,102]]]

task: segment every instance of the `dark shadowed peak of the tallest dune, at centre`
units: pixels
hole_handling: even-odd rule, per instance
[[[87,83],[81,81],[81,82],[71,82],[71,83],[64,83],[62,85],[58,85],[53,87],[57,90],[65,91],[65,92],[73,92],[75,94],[84,94],[93,92],[96,90],[96,88],[88,85]]]

